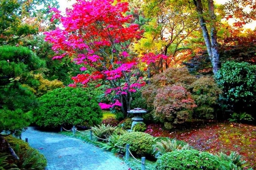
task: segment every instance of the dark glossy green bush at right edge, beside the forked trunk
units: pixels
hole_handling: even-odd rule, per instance
[[[217,72],[216,81],[223,91],[220,96],[222,107],[255,115],[251,110],[256,102],[256,65],[227,61]]]

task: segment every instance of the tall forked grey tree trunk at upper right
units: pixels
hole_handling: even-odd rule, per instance
[[[217,44],[217,31],[215,29],[215,19],[216,15],[214,14],[214,2],[213,0],[208,0],[208,11],[212,23],[210,23],[210,36],[206,26],[205,19],[203,17],[203,4],[201,0],[193,0],[197,14],[199,15],[199,21],[201,30],[203,31],[203,37],[205,45],[207,46],[207,52],[212,63],[213,74],[215,75],[220,68],[220,53],[218,52]]]

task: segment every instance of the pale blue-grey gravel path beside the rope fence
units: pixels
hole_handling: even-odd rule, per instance
[[[22,133],[31,147],[47,159],[47,170],[123,170],[129,167],[111,152],[55,132],[43,132],[33,127]]]

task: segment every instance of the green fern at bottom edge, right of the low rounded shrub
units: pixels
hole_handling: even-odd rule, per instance
[[[242,169],[250,169],[246,167],[246,161],[241,160],[241,155],[236,152],[231,152],[230,155],[226,155],[222,152],[217,154],[217,158],[220,161],[220,170],[242,170]]]

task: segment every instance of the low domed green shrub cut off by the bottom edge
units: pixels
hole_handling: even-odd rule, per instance
[[[208,152],[180,150],[168,152],[156,161],[155,170],[218,169],[218,159]]]

